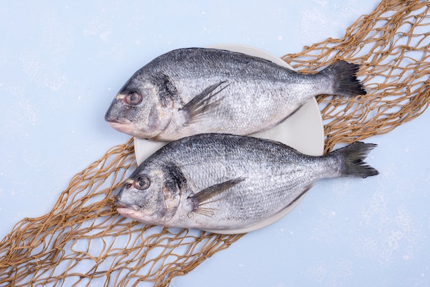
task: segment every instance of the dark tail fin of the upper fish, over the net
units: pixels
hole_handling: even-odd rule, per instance
[[[359,65],[338,60],[326,67],[321,73],[326,74],[332,80],[332,93],[335,95],[351,96],[365,95],[366,91],[357,79]]]

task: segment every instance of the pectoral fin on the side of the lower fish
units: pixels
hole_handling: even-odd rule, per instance
[[[229,181],[224,181],[223,183],[218,183],[216,185],[212,185],[210,187],[205,188],[201,192],[197,192],[196,194],[193,194],[192,196],[188,197],[189,200],[192,202],[192,211],[203,214],[205,216],[211,216],[214,214],[214,208],[210,207],[204,207],[204,205],[207,205],[209,203],[214,203],[215,201],[219,200],[214,199],[215,196],[222,194],[223,192],[229,190],[231,187],[234,187],[234,185],[237,185],[238,183],[241,183],[242,181],[245,181],[245,177],[238,177],[237,179],[231,179]]]

